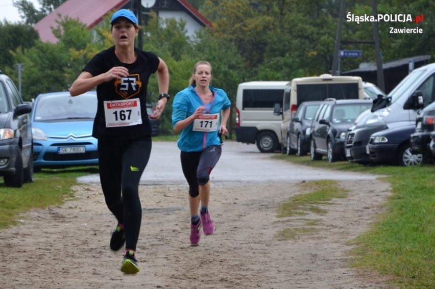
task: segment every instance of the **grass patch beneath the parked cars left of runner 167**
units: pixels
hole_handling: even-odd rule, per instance
[[[35,173],[33,183],[21,188],[5,187],[0,178],[0,229],[16,225],[20,213],[62,204],[73,197],[71,187],[77,185],[77,177],[96,172],[96,167],[43,169]]]

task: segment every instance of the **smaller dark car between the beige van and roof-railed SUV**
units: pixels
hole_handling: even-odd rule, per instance
[[[305,101],[299,104],[295,117],[288,125],[287,154],[296,152],[298,156],[309,151],[309,130],[312,120],[322,101]]]

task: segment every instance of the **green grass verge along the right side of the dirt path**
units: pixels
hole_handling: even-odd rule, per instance
[[[402,288],[435,288],[435,166],[361,166],[349,162],[313,162],[309,156],[277,154],[301,165],[383,175],[392,196],[386,213],[356,238],[353,267],[392,277]]]

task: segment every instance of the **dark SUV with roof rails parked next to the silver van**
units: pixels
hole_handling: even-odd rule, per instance
[[[311,160],[321,160],[323,155],[329,162],[344,159],[347,129],[361,113],[372,107],[372,103],[369,99],[326,99],[310,127]]]

